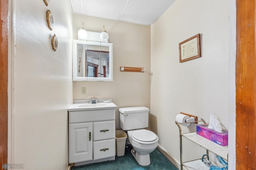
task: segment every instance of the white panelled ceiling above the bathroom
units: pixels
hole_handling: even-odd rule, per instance
[[[73,12],[152,25],[176,0],[70,0]]]

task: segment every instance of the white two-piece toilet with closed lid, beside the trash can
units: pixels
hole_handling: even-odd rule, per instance
[[[142,166],[150,164],[149,154],[158,145],[158,136],[144,129],[148,127],[148,111],[146,107],[119,108],[120,127],[122,130],[128,130],[128,139],[133,147],[131,152]]]

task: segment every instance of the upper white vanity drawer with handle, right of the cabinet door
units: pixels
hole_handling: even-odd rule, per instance
[[[115,138],[115,121],[93,123],[93,140]]]

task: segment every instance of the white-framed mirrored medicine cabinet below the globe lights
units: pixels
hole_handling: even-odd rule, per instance
[[[113,44],[73,40],[73,81],[113,81]]]

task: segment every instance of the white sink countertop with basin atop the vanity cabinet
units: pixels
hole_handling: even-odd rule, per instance
[[[117,106],[113,102],[109,103],[74,103],[68,108],[68,111],[89,111],[102,109],[116,109]]]

